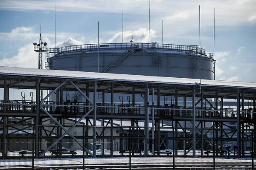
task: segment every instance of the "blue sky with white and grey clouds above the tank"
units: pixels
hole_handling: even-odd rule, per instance
[[[56,42],[54,34],[56,4]],[[150,42],[201,45],[213,52],[216,79],[256,82],[256,0],[151,0]],[[78,43],[148,42],[149,0],[0,0],[0,65],[38,68],[32,42],[48,47]],[[43,56],[44,57],[44,56]]]

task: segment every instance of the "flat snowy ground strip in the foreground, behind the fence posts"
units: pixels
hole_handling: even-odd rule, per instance
[[[132,157],[132,164],[169,164],[172,166],[172,157]],[[175,158],[175,166],[186,165],[186,164],[195,164],[197,166],[205,166],[208,163],[212,164],[212,158],[191,158],[191,157],[177,157]],[[216,158],[216,164],[222,164],[225,167],[225,164],[251,164],[251,159],[224,159]],[[88,158],[85,159],[85,167],[91,167],[93,165],[108,164],[111,166],[113,164],[129,164],[129,158]],[[51,167],[51,168],[61,168],[67,166],[81,166],[83,163],[82,158],[62,158],[62,159],[35,159],[35,167]],[[9,168],[25,168],[32,167],[32,159],[6,159],[0,160],[0,169],[9,169]]]

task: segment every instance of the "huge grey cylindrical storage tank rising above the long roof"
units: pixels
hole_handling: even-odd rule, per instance
[[[72,45],[54,51],[47,67],[55,70],[197,79],[214,75],[212,53],[198,45],[131,42]]]

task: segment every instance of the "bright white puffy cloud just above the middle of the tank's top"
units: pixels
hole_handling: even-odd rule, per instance
[[[150,40],[156,37],[156,31],[150,29]],[[124,31],[124,42],[129,42],[134,37],[134,42],[148,42],[148,29],[139,28],[135,31]],[[122,32],[116,33],[113,37],[106,41],[107,43],[122,42]]]

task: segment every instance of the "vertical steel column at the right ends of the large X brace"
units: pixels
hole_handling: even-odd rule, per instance
[[[94,82],[93,87],[93,158],[96,158],[96,120],[97,120],[97,103],[96,96],[97,95],[97,81]]]

